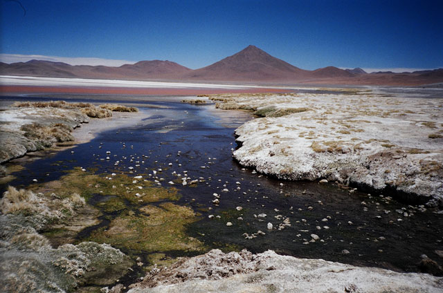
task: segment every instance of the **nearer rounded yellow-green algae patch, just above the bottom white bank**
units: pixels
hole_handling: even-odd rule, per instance
[[[93,231],[89,240],[136,252],[199,251],[203,244],[186,235],[186,225],[199,220],[190,207],[165,202],[127,211],[109,227]]]

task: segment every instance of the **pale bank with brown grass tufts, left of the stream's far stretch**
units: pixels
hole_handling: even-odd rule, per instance
[[[0,163],[20,158],[29,151],[40,151],[62,142],[87,142],[105,129],[133,124],[123,121],[134,115],[136,108],[115,104],[94,106],[89,103],[17,102],[1,109]],[[111,118],[112,113],[119,113]],[[115,116],[115,115],[114,115]],[[141,119],[140,117],[136,117]],[[104,119],[101,123],[99,119]],[[109,122],[113,121],[113,124]],[[81,131],[74,131],[82,124]]]

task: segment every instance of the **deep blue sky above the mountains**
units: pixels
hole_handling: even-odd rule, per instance
[[[442,0],[0,0],[0,4],[3,54],[134,62],[168,59],[200,68],[252,44],[310,70],[443,67]]]

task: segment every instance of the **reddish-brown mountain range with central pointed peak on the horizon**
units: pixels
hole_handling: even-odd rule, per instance
[[[235,55],[210,66],[192,70],[170,61],[141,61],[111,66],[72,66],[62,62],[31,60],[6,64],[0,62],[0,75],[37,77],[80,77],[131,80],[180,80],[212,82],[253,82],[274,84],[354,84],[422,85],[443,82],[443,68],[413,73],[366,73],[361,68],[334,66],[304,70],[275,58],[260,48],[248,46]]]

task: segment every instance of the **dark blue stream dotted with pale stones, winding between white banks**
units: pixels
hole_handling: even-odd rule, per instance
[[[390,200],[389,194],[370,196],[334,183],[266,178],[232,159],[234,130],[251,119],[250,114],[218,111],[213,105],[149,104],[164,108],[141,108],[146,115],[141,124],[106,131],[89,143],[29,162],[9,184],[26,187],[34,178],[55,180],[73,167],[97,168],[98,173],[129,173],[133,167],[133,176],[156,170],[164,179],[163,187],[177,180],[173,172],[187,174],[201,182],[190,187],[176,181],[174,187],[182,195],[179,203],[201,214],[188,233],[208,246],[252,252],[273,249],[279,254],[405,272],[420,271],[422,254],[443,265],[435,253],[443,249],[443,215],[437,210],[425,211]],[[107,151],[111,151],[110,160],[105,160]],[[213,193],[220,196],[217,206]],[[267,229],[268,223],[278,228],[284,218],[289,218],[285,223],[290,226]],[[227,226],[228,222],[232,225]],[[246,238],[258,230],[264,235]],[[311,242],[311,234],[318,240]]]

